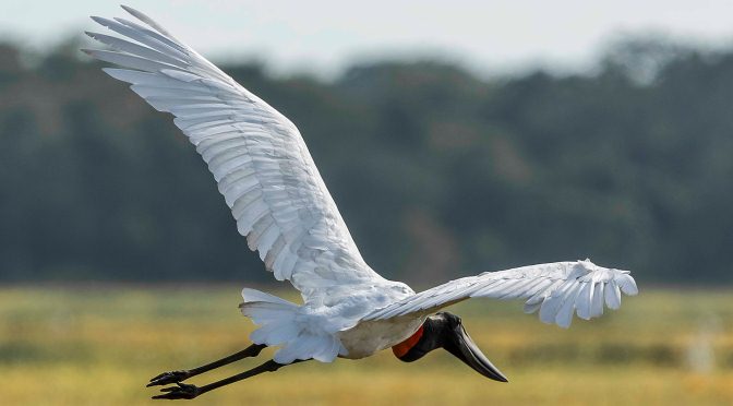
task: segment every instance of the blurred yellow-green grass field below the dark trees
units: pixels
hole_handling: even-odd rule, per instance
[[[152,404],[146,381],[249,344],[237,286],[0,289],[3,405]],[[733,404],[733,291],[645,289],[620,311],[568,330],[520,302],[452,308],[510,383],[435,351],[308,362],[208,393],[200,404]],[[240,372],[245,360],[192,380]]]

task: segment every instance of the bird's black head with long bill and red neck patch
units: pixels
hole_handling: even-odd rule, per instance
[[[453,354],[486,378],[508,382],[466,333],[460,318],[452,313],[442,312],[429,317],[414,335],[393,347],[393,350],[401,361],[412,362],[436,348]]]

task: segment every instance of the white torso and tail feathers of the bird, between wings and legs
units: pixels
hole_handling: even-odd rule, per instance
[[[374,309],[414,295],[399,282],[374,280],[332,289],[324,300],[298,306],[272,295],[243,289],[242,313],[259,325],[250,338],[255,344],[280,346],[275,361],[296,359],[325,362],[336,357],[359,359],[409,337],[424,317],[362,321]]]

